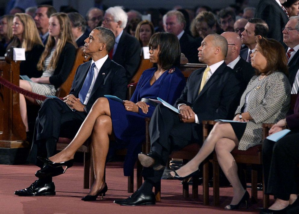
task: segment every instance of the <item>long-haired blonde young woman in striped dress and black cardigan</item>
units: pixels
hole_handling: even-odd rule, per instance
[[[56,90],[68,77],[75,61],[77,45],[74,41],[71,22],[65,13],[55,13],[49,18],[49,37],[37,63],[37,69],[42,70],[42,76],[32,77],[31,81],[20,80],[20,87],[34,93],[54,96]],[[20,94],[21,117],[28,130],[26,100],[32,103],[42,103]]]

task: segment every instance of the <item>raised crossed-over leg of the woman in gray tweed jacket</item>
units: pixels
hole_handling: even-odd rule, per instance
[[[203,160],[213,152],[216,143],[222,138],[238,141],[230,123],[216,123],[197,155],[186,165],[176,170],[177,174],[181,177],[185,177],[190,175],[192,172],[195,172],[200,163],[203,162]],[[175,176],[174,172],[170,172],[170,174]]]

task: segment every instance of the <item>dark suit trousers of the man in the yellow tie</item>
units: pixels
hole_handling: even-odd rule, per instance
[[[169,154],[190,143],[202,143],[202,126],[195,123],[182,123],[178,114],[158,105],[150,122],[151,150],[168,162]],[[145,181],[157,184],[162,177],[163,169],[155,171],[153,168],[143,168]]]

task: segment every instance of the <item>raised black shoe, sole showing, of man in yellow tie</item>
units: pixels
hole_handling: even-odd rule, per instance
[[[153,167],[154,170],[160,170],[165,168],[165,164],[162,162],[162,157],[156,152],[150,152],[148,154],[139,153],[138,159],[144,167]]]

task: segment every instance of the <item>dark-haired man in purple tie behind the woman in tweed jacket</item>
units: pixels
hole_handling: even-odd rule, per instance
[[[242,43],[248,48],[240,51],[240,56],[245,61],[250,62],[250,54],[255,50],[257,39],[266,37],[269,31],[268,25],[264,20],[258,18],[249,19],[244,27],[244,31],[241,33]]]

